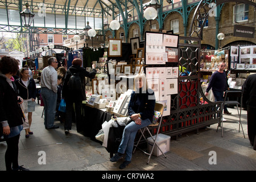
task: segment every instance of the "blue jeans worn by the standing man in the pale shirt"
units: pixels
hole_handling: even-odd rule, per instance
[[[57,93],[43,87],[41,88],[41,96],[44,101],[44,126],[49,129],[54,125]]]

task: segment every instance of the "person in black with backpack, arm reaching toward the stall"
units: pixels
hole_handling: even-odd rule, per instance
[[[86,100],[84,84],[85,77],[93,78],[97,73],[95,69],[95,64],[92,64],[92,72],[86,71],[86,69],[81,67],[81,65],[81,59],[74,59],[72,61],[72,66],[69,67],[64,78],[62,96],[66,102],[66,113],[64,123],[65,134],[69,134],[69,130],[71,130],[72,118],[75,119],[77,132],[82,131],[81,108],[82,101]],[[73,111],[74,103],[75,112]]]

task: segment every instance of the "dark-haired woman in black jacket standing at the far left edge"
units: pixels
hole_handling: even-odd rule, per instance
[[[7,171],[11,169],[28,171],[18,164],[19,135],[23,129],[23,113],[19,106],[23,100],[18,97],[13,78],[18,69],[19,62],[13,57],[5,56],[0,60],[0,123],[7,143],[5,152]]]

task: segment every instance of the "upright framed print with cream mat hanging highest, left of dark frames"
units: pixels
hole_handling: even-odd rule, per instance
[[[121,39],[109,39],[109,57],[122,57],[122,40]]]

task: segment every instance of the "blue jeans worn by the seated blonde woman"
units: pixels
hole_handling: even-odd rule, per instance
[[[149,119],[144,119],[142,120],[141,125],[137,125],[135,122],[132,121],[129,123],[129,125],[125,127],[125,130],[123,130],[123,137],[118,148],[119,153],[125,154],[126,152],[125,160],[131,161],[134,139],[136,137],[137,131],[150,124],[151,121]]]

